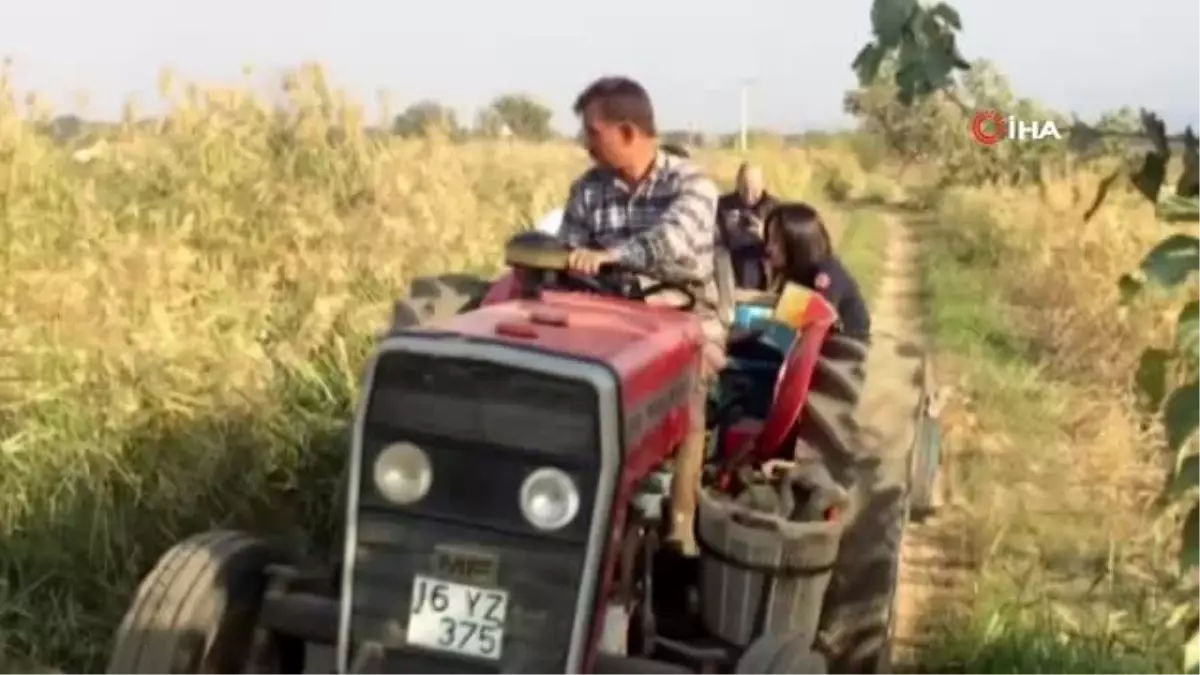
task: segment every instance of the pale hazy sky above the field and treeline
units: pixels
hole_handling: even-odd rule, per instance
[[[1018,92],[1085,118],[1145,106],[1200,125],[1186,44],[1196,0],[952,0],[962,52],[995,61]],[[628,74],[664,129],[736,129],[749,85],[750,125],[844,127],[850,62],[869,37],[869,0],[10,0],[0,54],[22,89],[56,110],[119,114],[134,94],[157,100],[164,67],[235,83],[252,65],[265,83],[305,61],[374,107],[436,98],[463,120],[521,91],[574,130],[575,95],[601,74]],[[84,110],[72,109],[86,92]]]

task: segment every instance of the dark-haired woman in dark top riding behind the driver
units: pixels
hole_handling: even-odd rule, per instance
[[[871,316],[858,281],[833,252],[821,215],[803,203],[785,203],[767,216],[767,264],[775,292],[788,281],[824,295],[838,310],[838,329],[869,340]]]

